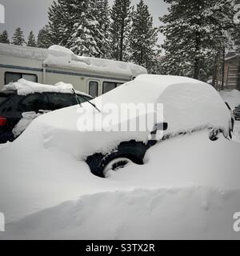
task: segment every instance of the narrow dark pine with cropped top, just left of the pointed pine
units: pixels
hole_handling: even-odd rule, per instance
[[[116,60],[128,60],[129,34],[131,26],[130,0],[114,0],[111,10],[111,57]]]

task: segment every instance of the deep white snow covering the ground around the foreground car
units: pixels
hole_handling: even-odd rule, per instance
[[[45,127],[33,122],[0,147],[0,239],[240,239],[239,123],[235,141],[211,142],[207,130],[172,138],[145,165],[103,179],[46,148]]]

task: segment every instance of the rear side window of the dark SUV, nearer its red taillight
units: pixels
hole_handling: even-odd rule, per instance
[[[30,94],[22,99],[22,101],[19,103],[18,109],[22,112],[38,112],[40,98],[41,94]]]

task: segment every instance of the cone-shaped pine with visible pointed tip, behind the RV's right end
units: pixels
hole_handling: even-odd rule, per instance
[[[133,25],[130,33],[131,60],[140,66],[145,66],[151,73],[157,57],[156,43],[158,29],[153,26],[153,17],[143,0],[134,11]]]

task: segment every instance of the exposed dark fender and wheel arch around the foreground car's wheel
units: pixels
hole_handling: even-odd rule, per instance
[[[147,146],[142,142],[122,142],[111,154],[94,154],[86,159],[92,174],[105,178],[103,170],[105,166],[115,158],[128,158],[138,165],[143,165],[143,158],[146,154]]]

